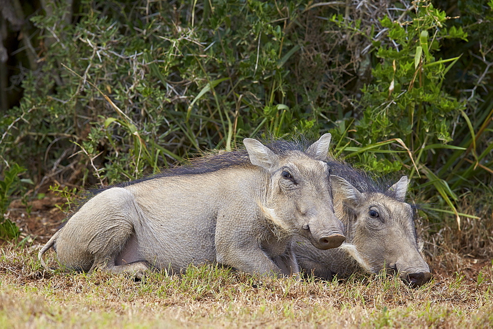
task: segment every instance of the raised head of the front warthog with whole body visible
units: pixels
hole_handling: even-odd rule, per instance
[[[246,138],[253,165],[270,176],[265,202],[259,207],[278,230],[307,237],[318,249],[336,248],[345,240],[344,227],[334,214],[325,160],[331,135],[324,134],[305,152],[279,147],[274,153]]]

